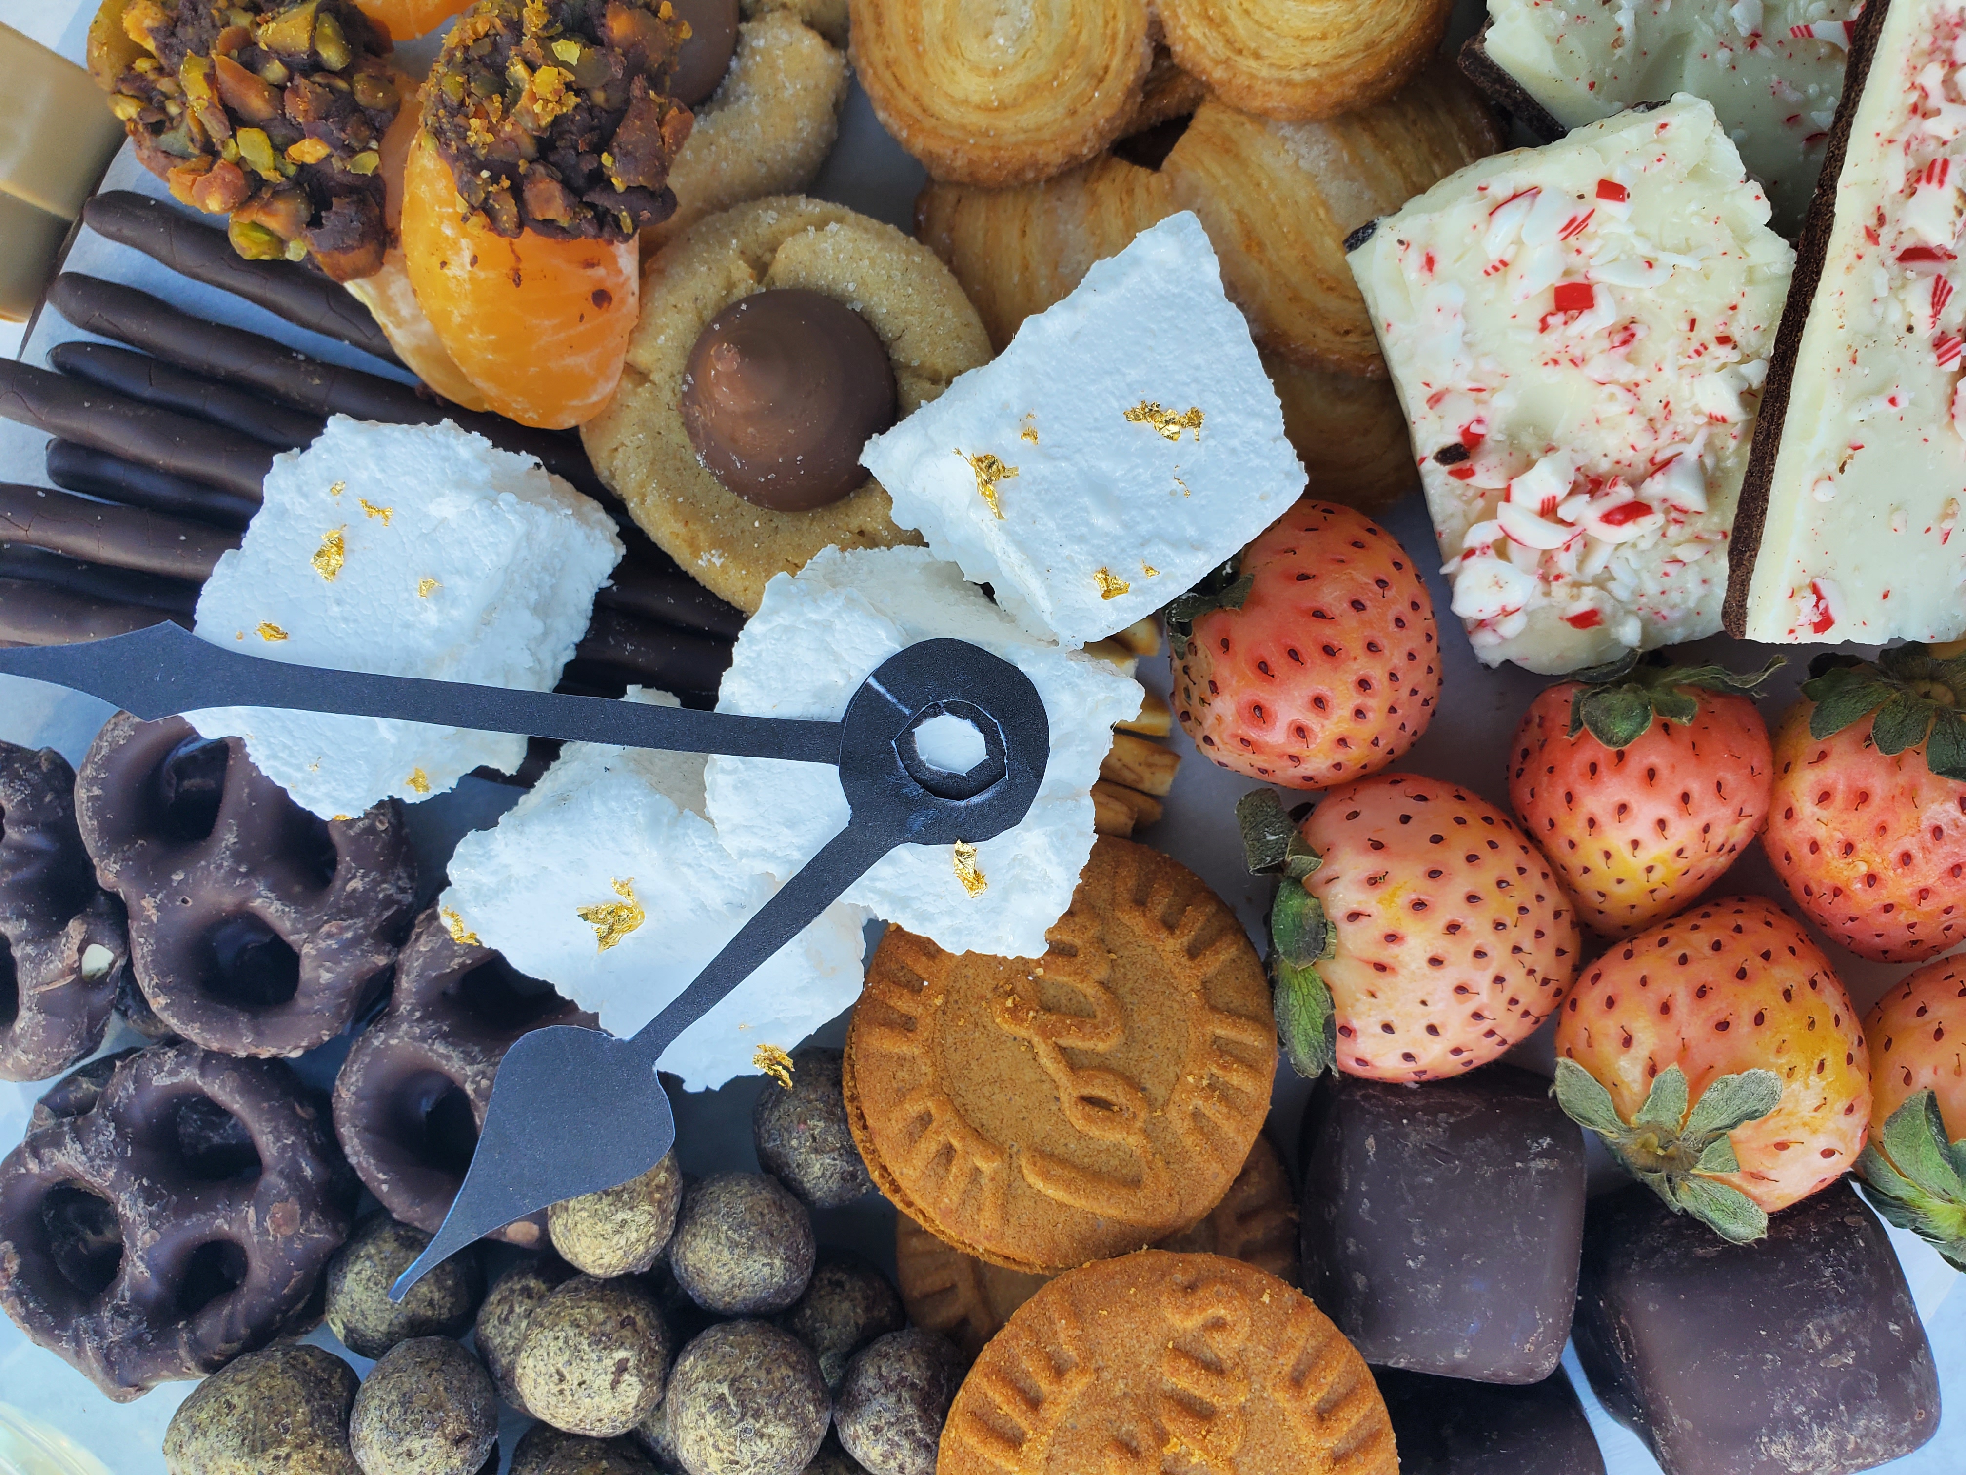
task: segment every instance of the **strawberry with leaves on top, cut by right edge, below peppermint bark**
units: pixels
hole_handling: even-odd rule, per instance
[[[1775,728],[1762,848],[1797,905],[1860,958],[1966,940],[1966,653],[1817,657]]]

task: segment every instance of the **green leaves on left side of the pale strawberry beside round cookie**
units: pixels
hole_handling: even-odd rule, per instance
[[[1252,789],[1235,806],[1243,826],[1243,854],[1250,875],[1276,875],[1270,905],[1270,989],[1276,1001],[1276,1034],[1290,1068],[1317,1080],[1337,1064],[1337,1009],[1317,964],[1337,952],[1337,932],[1323,903],[1303,889],[1303,879],[1323,857],[1303,844],[1298,824],[1274,789]]]

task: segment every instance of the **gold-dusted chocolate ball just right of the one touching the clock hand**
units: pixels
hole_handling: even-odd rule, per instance
[[[763,1172],[718,1172],[682,1198],[668,1268],[720,1316],[771,1316],[806,1292],[818,1245],[812,1215]]]

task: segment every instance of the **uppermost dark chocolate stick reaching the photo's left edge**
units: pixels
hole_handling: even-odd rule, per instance
[[[0,415],[173,476],[210,482],[254,503],[273,464],[267,444],[238,431],[14,360],[0,360]]]

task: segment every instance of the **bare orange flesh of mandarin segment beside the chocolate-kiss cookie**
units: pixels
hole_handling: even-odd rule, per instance
[[[403,258],[417,301],[486,403],[562,431],[613,395],[637,311],[637,246],[493,236],[464,218],[429,136],[403,179]]]

